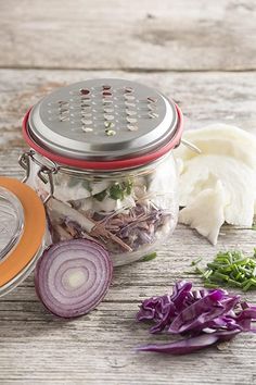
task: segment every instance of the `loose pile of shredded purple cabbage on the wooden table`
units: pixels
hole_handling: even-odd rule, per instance
[[[241,332],[256,332],[256,307],[238,295],[222,289],[192,290],[192,283],[176,283],[171,295],[142,301],[138,321],[151,321],[150,333],[187,336],[185,339],[145,345],[138,350],[183,355],[203,349],[217,341],[229,340]]]

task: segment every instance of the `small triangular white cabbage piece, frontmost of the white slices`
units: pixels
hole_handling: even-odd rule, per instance
[[[219,229],[225,222],[228,197],[220,181],[206,188],[179,213],[179,222],[195,228],[213,245],[217,244]]]

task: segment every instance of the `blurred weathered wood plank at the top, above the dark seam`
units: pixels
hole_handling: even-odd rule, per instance
[[[253,0],[10,0],[0,13],[2,67],[256,67]]]

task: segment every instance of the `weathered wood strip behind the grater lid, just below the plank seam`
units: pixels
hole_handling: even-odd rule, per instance
[[[185,128],[213,122],[239,125],[256,133],[255,74],[127,73],[95,71],[0,70],[0,149],[2,171],[17,172],[14,159],[24,148],[21,123],[26,110],[52,89],[93,77],[121,77],[155,87],[172,97],[185,115]]]

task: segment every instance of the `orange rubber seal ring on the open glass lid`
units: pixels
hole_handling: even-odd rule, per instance
[[[15,278],[37,254],[46,234],[46,211],[37,194],[22,182],[0,177],[0,186],[12,191],[24,210],[23,234],[16,247],[0,262],[0,287]]]

